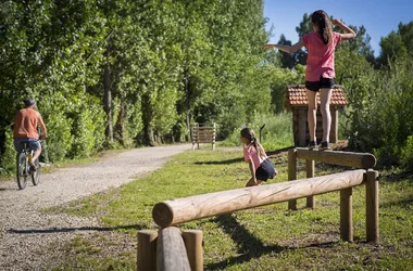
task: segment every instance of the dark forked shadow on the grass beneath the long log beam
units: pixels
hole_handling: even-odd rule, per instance
[[[326,242],[317,244],[309,244],[302,247],[293,246],[279,246],[270,245],[266,246],[261,240],[252,235],[246,228],[243,228],[231,215],[218,216],[214,219],[218,225],[221,225],[225,233],[229,234],[233,241],[237,244],[238,253],[241,254],[236,257],[222,260],[215,263],[209,263],[205,270],[223,270],[234,264],[248,262],[251,259],[260,258],[261,256],[268,254],[279,254],[284,250],[295,250],[301,248],[328,248],[333,247],[337,242]]]

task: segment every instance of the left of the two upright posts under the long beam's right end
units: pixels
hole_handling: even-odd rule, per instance
[[[340,237],[347,242],[353,242],[353,189],[340,190]]]

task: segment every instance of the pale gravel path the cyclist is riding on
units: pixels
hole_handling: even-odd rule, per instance
[[[43,270],[48,262],[46,248],[61,247],[82,229],[99,227],[96,218],[65,214],[41,214],[45,207],[59,206],[117,188],[153,171],[177,153],[191,145],[136,149],[114,154],[103,160],[63,168],[42,175],[40,184],[0,182],[0,270]],[[92,229],[90,229],[92,231]]]

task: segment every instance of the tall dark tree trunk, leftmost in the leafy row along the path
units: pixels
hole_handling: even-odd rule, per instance
[[[107,129],[105,136],[107,140],[110,144],[113,144],[113,125],[112,125],[112,91],[111,91],[111,69],[109,67],[108,59],[109,59],[109,49],[105,53],[107,56],[107,65],[103,72],[103,108],[107,114]]]

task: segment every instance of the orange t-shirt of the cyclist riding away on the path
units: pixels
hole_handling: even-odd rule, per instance
[[[18,111],[16,116],[14,117],[13,137],[38,139],[38,125],[43,126],[43,121],[41,119],[40,114],[33,108],[23,108]]]

